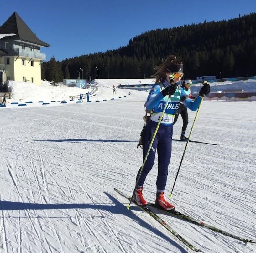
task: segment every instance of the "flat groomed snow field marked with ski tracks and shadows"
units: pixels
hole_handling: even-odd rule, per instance
[[[117,90],[118,92],[118,90]],[[132,194],[145,100],[1,111],[0,252],[191,252],[113,188]],[[135,94],[134,94],[135,93]],[[140,95],[141,94],[141,95]],[[255,238],[255,102],[203,102],[177,179],[176,209],[230,233]],[[191,128],[196,112],[189,111]],[[174,138],[179,138],[179,117]],[[184,145],[173,142],[170,192]],[[157,157],[144,185],[153,201]],[[128,204],[128,201],[126,201]],[[256,245],[159,213],[202,252],[254,253]]]

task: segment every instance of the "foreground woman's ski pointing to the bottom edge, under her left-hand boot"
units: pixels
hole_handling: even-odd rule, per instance
[[[114,188],[116,192],[118,192],[122,197],[128,199],[129,201],[131,198],[124,194],[123,192],[119,191],[118,189]],[[149,214],[151,217],[153,217],[157,222],[159,222],[162,226],[164,226],[169,232],[171,232],[176,238],[180,240],[183,244],[185,244],[189,249],[195,251],[195,252],[201,252],[201,250],[196,249],[195,246],[193,246],[191,243],[189,243],[185,238],[180,236],[176,231],[174,231],[163,219],[161,219],[158,215],[156,215],[153,211],[149,209],[147,205],[145,206],[139,206],[136,204],[134,200],[132,200],[133,204],[141,208],[143,211],[145,211],[147,214]]]

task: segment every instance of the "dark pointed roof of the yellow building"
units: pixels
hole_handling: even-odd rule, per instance
[[[25,42],[31,42],[42,47],[50,47],[49,44],[39,40],[39,38],[35,36],[34,32],[30,30],[17,12],[14,12],[12,16],[9,17],[0,27],[0,34],[4,33],[15,33],[16,35],[4,37],[2,40],[18,39]]]

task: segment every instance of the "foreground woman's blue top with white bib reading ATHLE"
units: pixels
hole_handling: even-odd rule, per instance
[[[149,96],[146,101],[146,109],[153,109],[150,120],[155,122],[159,121],[163,109],[165,107],[166,101],[168,99],[168,96],[164,97],[161,91],[162,89],[167,88],[169,85],[170,84],[167,84],[167,82],[156,83],[151,88]],[[164,124],[166,126],[172,125],[175,114],[180,106],[180,101],[190,110],[196,111],[201,102],[201,97],[198,96],[195,99],[195,101],[192,101],[189,97],[186,96],[186,93],[183,90],[183,88],[177,86],[175,93],[171,96],[170,101],[168,102],[168,106],[166,107],[161,124]]]

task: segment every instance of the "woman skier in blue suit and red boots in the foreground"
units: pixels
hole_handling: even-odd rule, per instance
[[[159,129],[154,138],[148,158],[145,162],[144,168],[138,171],[136,177],[135,201],[138,205],[146,205],[147,201],[144,199],[142,190],[143,185],[149,171],[154,165],[155,153],[158,153],[158,175],[156,179],[156,205],[165,210],[174,209],[174,205],[165,200],[165,186],[168,175],[168,165],[171,158],[171,143],[173,131],[173,118],[179,107],[180,101],[192,111],[196,111],[202,98],[210,92],[210,85],[205,83],[199,92],[199,96],[193,102],[188,98],[183,88],[177,86],[183,76],[183,64],[175,55],[170,55],[165,62],[156,67],[154,78],[155,85],[151,88],[149,96],[146,101],[146,109],[152,110],[150,118],[144,128],[143,133],[143,159],[148,152],[150,143],[152,141],[156,126],[162,115],[165,103],[170,96],[170,101],[166,107]]]

